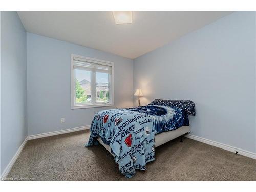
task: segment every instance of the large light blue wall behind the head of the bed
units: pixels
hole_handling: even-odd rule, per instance
[[[191,134],[255,153],[255,34],[255,12],[221,18],[135,59],[134,89],[194,101]]]

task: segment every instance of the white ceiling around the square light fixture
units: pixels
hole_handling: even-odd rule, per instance
[[[132,24],[112,12],[18,12],[28,32],[136,58],[232,12],[133,11]]]

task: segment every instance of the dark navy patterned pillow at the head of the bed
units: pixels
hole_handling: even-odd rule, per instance
[[[164,100],[155,99],[149,105],[177,106],[183,109],[188,115],[196,115],[195,103],[189,100]]]

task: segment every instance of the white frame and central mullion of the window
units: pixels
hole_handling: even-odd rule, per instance
[[[96,73],[91,72],[91,79],[93,82],[91,82],[91,100],[93,103],[83,103],[83,104],[76,104],[76,90],[75,90],[75,70],[74,70],[74,57],[80,58],[83,61],[95,63],[95,64],[101,64],[106,66],[111,66],[112,74],[109,77],[109,102],[102,104],[102,103],[96,103]],[[104,107],[104,106],[114,106],[114,62],[90,58],[90,57],[84,57],[76,54],[71,54],[71,109],[81,109],[81,108],[98,108],[98,107]],[[94,77],[92,77],[92,75]],[[92,86],[95,84],[95,86]],[[95,92],[95,93],[94,93]],[[95,97],[95,98],[94,98]]]

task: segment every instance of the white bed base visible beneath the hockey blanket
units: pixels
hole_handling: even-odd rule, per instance
[[[155,136],[155,147],[158,147],[164,143],[167,143],[177,137],[183,136],[189,132],[190,132],[190,126],[182,126],[173,131],[159,133]],[[111,155],[113,155],[111,153],[111,148],[109,145],[106,145],[105,143],[103,143],[103,141],[100,139],[100,137],[98,137],[97,140],[99,141],[100,144],[102,144],[106,148],[106,150],[108,150],[110,152]]]

